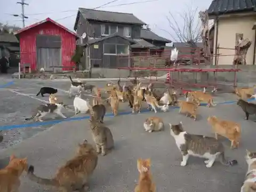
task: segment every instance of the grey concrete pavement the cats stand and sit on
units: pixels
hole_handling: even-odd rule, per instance
[[[103,84],[106,84],[106,82]],[[14,123],[21,122],[22,118],[29,115],[29,112],[26,111],[31,106],[41,103],[41,101],[24,95],[17,96],[15,95],[17,93],[13,93],[12,95],[11,89],[15,89],[16,92],[20,93],[22,90],[19,90],[19,87],[26,88],[27,90],[22,93],[34,94],[34,97],[39,90],[39,85],[58,86],[57,88],[63,88],[63,90],[65,90],[65,87],[68,87],[60,82],[57,84],[54,82],[45,82],[42,84],[41,82],[31,83],[30,80],[15,83],[15,85],[0,91],[2,98],[5,98],[3,102],[6,106],[5,110],[12,108],[8,107],[8,105],[12,106],[15,103],[16,105],[14,105],[9,113],[15,113],[15,110],[19,109],[17,112],[18,120],[17,122],[13,121]],[[65,93],[59,93],[65,97]],[[10,100],[7,98],[10,98]],[[38,98],[42,99],[41,97]],[[43,99],[46,100],[47,98],[45,97]],[[225,100],[235,100],[235,97],[234,95],[228,94],[217,94],[217,97],[214,97],[215,102]],[[10,102],[13,104],[10,104]],[[67,102],[71,104],[72,100],[67,100]],[[1,105],[1,107],[4,107],[4,104]],[[122,104],[121,110],[131,111],[126,105],[127,103]],[[73,115],[69,111],[65,115],[68,113],[70,113],[70,116]],[[247,170],[244,159],[245,149],[255,150],[254,135],[256,130],[254,129],[255,123],[252,120],[256,118],[251,117],[249,121],[245,121],[243,111],[235,104],[220,104],[212,108],[202,106],[199,107],[199,114],[198,121],[178,114],[178,109],[170,109],[166,113],[159,112],[154,114],[153,112],[147,112],[135,115],[128,114],[106,117],[105,123],[113,133],[115,149],[105,157],[99,156],[98,166],[90,179],[90,191],[133,191],[139,177],[137,171],[138,158],[151,158],[151,171],[157,191],[239,191]],[[189,133],[213,137],[211,127],[206,122],[209,115],[216,115],[222,119],[229,119],[241,123],[242,140],[238,149],[229,149],[230,142],[225,138],[221,138],[221,141],[226,147],[227,158],[230,160],[237,159],[238,165],[225,167],[219,162],[215,162],[213,167],[206,168],[203,159],[190,157],[187,166],[181,167],[181,154],[175,145],[174,139],[170,135],[168,123],[175,124],[182,121],[185,130]],[[14,117],[14,115],[12,116]],[[81,114],[79,116],[83,115]],[[165,130],[153,133],[145,132],[142,124],[149,116],[162,117],[165,123]],[[30,131],[26,129],[23,129],[22,132]],[[37,128],[34,127],[34,129]],[[92,137],[86,119],[59,123],[50,129],[34,135],[34,137],[21,141],[17,145],[0,150],[0,157],[3,159],[1,166],[6,165],[7,162],[4,160],[7,160],[10,154],[15,154],[19,157],[28,157],[29,164],[35,166],[35,174],[44,178],[52,178],[58,167],[65,164],[68,159],[74,156],[77,143],[82,142],[84,139],[92,143]],[[46,191],[46,188],[37,185],[23,176],[21,178],[20,191]],[[53,190],[50,189],[50,191]]]

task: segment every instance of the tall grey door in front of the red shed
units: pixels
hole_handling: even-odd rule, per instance
[[[62,66],[61,38],[59,35],[37,35],[37,70],[53,70],[51,67]]]

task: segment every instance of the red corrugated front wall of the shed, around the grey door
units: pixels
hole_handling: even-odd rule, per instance
[[[62,66],[75,66],[71,57],[76,49],[76,37],[68,31],[48,21],[34,28],[20,33],[20,56],[21,66],[30,63],[31,70],[37,70],[36,59],[36,35],[60,35],[61,36],[61,62]],[[63,68],[63,70],[72,70]]]

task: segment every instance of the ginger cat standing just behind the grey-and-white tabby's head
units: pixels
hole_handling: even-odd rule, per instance
[[[189,101],[178,101],[179,103],[179,113],[186,113],[186,116],[190,114],[190,117],[194,117],[194,120],[196,121],[196,116],[197,116],[197,105],[193,102]]]

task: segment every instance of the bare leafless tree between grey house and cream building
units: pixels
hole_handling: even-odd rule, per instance
[[[177,13],[178,17],[174,17],[169,12],[166,16],[171,31],[164,30],[175,42],[187,43],[191,48],[196,48],[196,43],[201,42],[201,23],[198,19],[198,8],[193,9],[187,6],[187,10]],[[191,49],[190,54],[194,55],[196,49]],[[190,59],[190,65],[193,63],[194,57]]]

